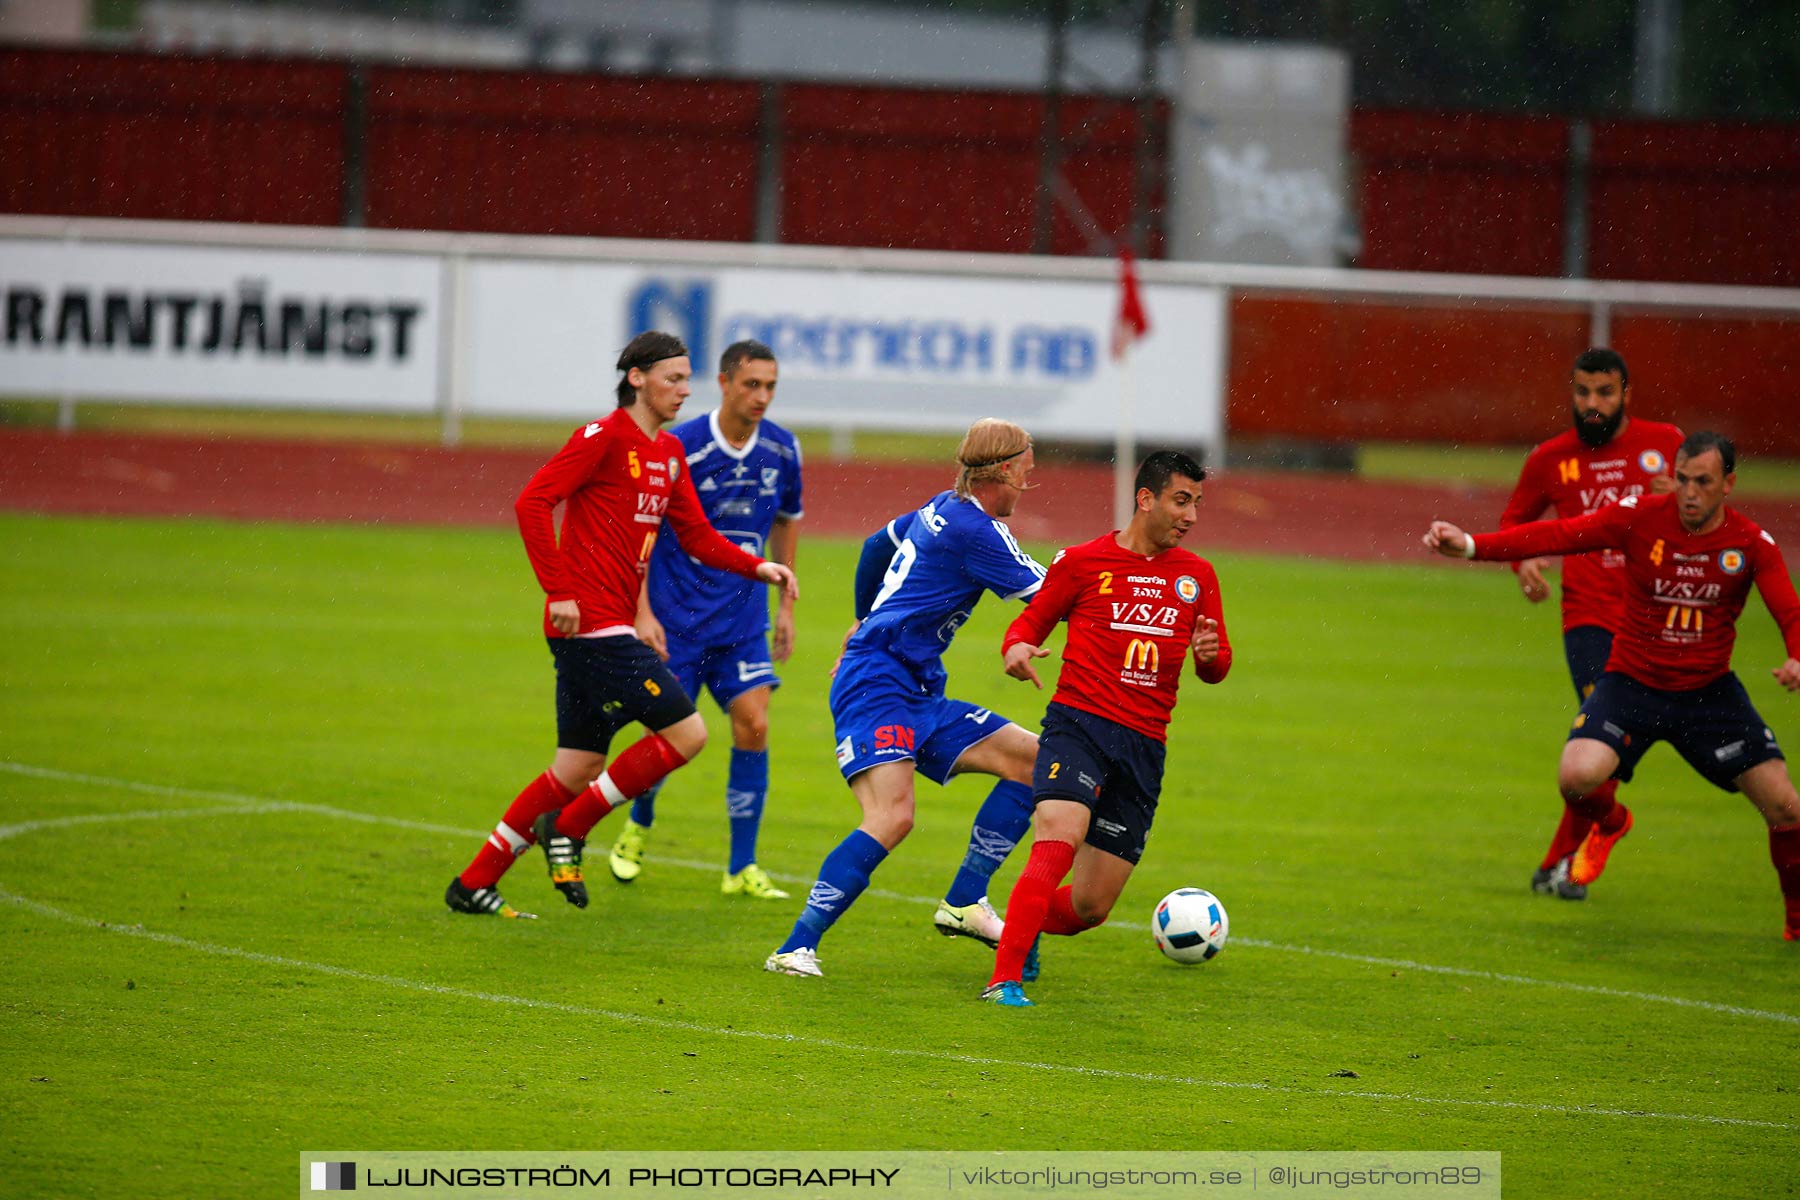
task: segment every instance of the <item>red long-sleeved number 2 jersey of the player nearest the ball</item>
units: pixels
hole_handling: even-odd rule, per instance
[[[1026,610],[1008,626],[1015,642],[1042,646],[1067,617],[1057,703],[1168,739],[1181,664],[1201,617],[1219,622],[1219,657],[1197,673],[1217,684],[1231,669],[1226,610],[1213,565],[1174,547],[1145,558],[1105,534],[1060,551]]]

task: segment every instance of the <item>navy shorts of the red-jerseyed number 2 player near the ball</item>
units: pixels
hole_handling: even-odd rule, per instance
[[[1031,802],[1085,804],[1087,844],[1136,864],[1156,820],[1166,754],[1136,729],[1051,702],[1037,738]]]

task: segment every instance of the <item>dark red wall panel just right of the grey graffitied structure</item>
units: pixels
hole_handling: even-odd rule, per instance
[[[1555,117],[1359,112],[1355,264],[1561,275],[1568,126]]]

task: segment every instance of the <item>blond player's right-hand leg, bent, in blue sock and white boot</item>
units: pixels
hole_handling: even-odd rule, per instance
[[[988,880],[1031,828],[1031,766],[1037,734],[1003,725],[963,750],[952,774],[999,779],[968,826],[968,851],[938,901],[931,923],[945,937],[972,937],[990,950],[1001,939],[1001,918],[988,900]]]

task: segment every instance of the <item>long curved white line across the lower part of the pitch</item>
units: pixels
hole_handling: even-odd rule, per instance
[[[214,810],[220,811],[220,810]],[[257,808],[257,810],[225,810],[234,813],[247,811],[284,811],[281,808]],[[151,813],[119,813],[119,817],[151,817]],[[79,819],[68,819],[70,822]],[[52,822],[32,822],[34,828],[45,828]],[[92,822],[85,822],[92,824]],[[11,826],[20,828],[20,826]],[[1246,1083],[1233,1079],[1199,1079],[1193,1076],[1172,1076],[1159,1074],[1152,1070],[1109,1070],[1103,1067],[1076,1067],[1069,1063],[1040,1063],[1030,1060],[1012,1060],[1012,1058],[990,1058],[983,1054],[954,1054],[947,1051],[918,1051],[893,1045],[862,1045],[857,1042],[839,1042],[837,1038],[814,1038],[797,1033],[767,1033],[760,1029],[733,1029],[720,1025],[707,1025],[691,1020],[670,1020],[664,1016],[646,1016],[644,1013],[621,1013],[614,1009],[589,1007],[585,1004],[563,1004],[560,1000],[535,1000],[531,997],[515,997],[502,991],[475,991],[472,988],[450,988],[445,984],[428,984],[418,979],[405,979],[400,975],[378,975],[374,972],[358,972],[347,966],[331,966],[328,963],[308,963],[306,959],[288,959],[277,954],[259,954],[256,950],[239,950],[236,946],[214,946],[203,941],[193,941],[189,937],[178,937],[175,934],[158,934],[148,930],[140,925],[115,925],[112,921],[95,921],[92,918],[76,916],[61,909],[54,909],[36,900],[27,900],[5,889],[0,889],[0,903],[23,909],[25,912],[36,912],[38,916],[54,918],[58,921],[67,921],[88,930],[97,930],[104,934],[122,934],[126,937],[137,937],[142,941],[151,941],[162,946],[175,946],[178,950],[193,950],[196,954],[209,954],[223,959],[238,959],[243,963],[257,963],[261,966],[279,966],[290,972],[313,972],[319,975],[329,975],[333,979],[349,979],[360,984],[376,984],[383,988],[396,988],[403,991],[419,991],[425,995],[443,997],[450,1000],[475,1000],[481,1004],[504,1004],[511,1007],[526,1007],[551,1013],[567,1013],[571,1016],[601,1018],[625,1025],[641,1025],[646,1029],[671,1029],[679,1033],[693,1033],[702,1036],[716,1038],[742,1038],[747,1042],[776,1042],[783,1045],[808,1045],[823,1051],[842,1051],[846,1054],[884,1054],[887,1058],[923,1058],[931,1061],[961,1063],[967,1067],[995,1067],[1004,1070],[1042,1070],[1048,1074],[1062,1076],[1082,1076],[1089,1079],[1125,1079],[1130,1083],[1154,1083],[1166,1087],[1192,1087],[1192,1088],[1213,1088],[1229,1092],[1269,1092],[1278,1096],[1303,1096],[1310,1099],[1370,1099],[1377,1103],[1408,1103],[1408,1105],[1426,1105],[1433,1108],[1499,1108],[1510,1112],[1532,1112],[1559,1117],[1633,1117],[1640,1121],[1681,1121],[1692,1124],[1719,1124],[1719,1126],[1737,1126],[1753,1130],[1780,1130],[1796,1132],[1800,1124],[1786,1124],[1780,1121],[1753,1121],[1748,1117],[1717,1117],[1710,1114],[1696,1112],[1649,1112],[1643,1108],[1602,1108],[1602,1106],[1580,1106],[1580,1105],[1534,1105],[1525,1101],[1508,1099],[1454,1099],[1442,1096],[1415,1096],[1411,1092],[1357,1092],[1357,1090],[1309,1090],[1298,1087],[1282,1087],[1274,1083]],[[812,986],[805,982],[788,986]]]

